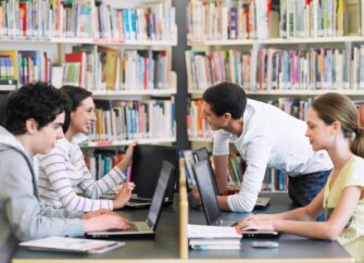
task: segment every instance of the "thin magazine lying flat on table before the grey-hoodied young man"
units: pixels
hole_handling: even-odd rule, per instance
[[[86,238],[47,237],[21,242],[20,246],[33,250],[64,251],[76,253],[103,253],[125,246],[125,242],[91,240]]]

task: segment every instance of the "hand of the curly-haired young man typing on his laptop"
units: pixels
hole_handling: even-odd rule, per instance
[[[129,229],[128,221],[116,213],[95,215],[90,218],[83,218],[86,231],[103,231],[110,229]]]

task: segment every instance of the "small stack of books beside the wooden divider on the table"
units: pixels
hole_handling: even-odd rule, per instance
[[[241,233],[236,227],[188,225],[192,250],[239,250],[240,239]]]

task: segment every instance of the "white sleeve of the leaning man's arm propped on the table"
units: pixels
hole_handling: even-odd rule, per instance
[[[234,212],[251,212],[254,209],[269,160],[272,143],[267,138],[256,137],[248,143],[246,151],[247,170],[240,191],[227,197],[227,205]]]

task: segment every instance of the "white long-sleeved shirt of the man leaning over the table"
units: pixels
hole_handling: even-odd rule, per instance
[[[326,151],[314,152],[304,136],[306,124],[263,102],[248,99],[240,137],[214,133],[213,155],[227,155],[229,140],[247,163],[240,191],[227,198],[231,211],[250,212],[256,202],[266,167],[292,177],[332,167]]]

